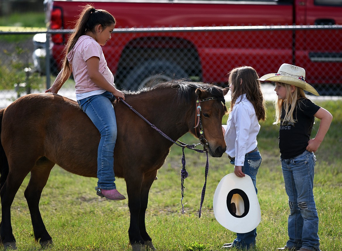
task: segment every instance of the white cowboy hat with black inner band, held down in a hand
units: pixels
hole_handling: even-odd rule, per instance
[[[213,199],[216,220],[235,233],[248,233],[261,220],[260,205],[251,177],[230,173],[219,182]]]

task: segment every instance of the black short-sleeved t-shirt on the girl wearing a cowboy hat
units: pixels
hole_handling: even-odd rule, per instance
[[[281,158],[293,158],[305,151],[314,125],[314,115],[319,108],[310,99],[301,98],[297,101],[296,109],[293,111],[295,123],[285,122],[282,124],[285,117],[283,107],[279,127],[279,150]]]

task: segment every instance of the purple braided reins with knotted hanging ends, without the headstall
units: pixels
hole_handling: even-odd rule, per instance
[[[188,172],[185,169],[185,154],[184,154],[184,148],[188,148],[188,149],[192,149],[196,152],[199,153],[206,153],[207,155],[207,164],[206,164],[206,170],[205,170],[205,183],[203,185],[202,188],[202,194],[201,194],[201,204],[200,204],[200,208],[199,208],[199,213],[198,213],[198,217],[201,218],[201,210],[202,210],[202,204],[204,201],[204,196],[206,194],[206,186],[207,186],[207,176],[208,176],[208,170],[209,170],[209,157],[208,157],[208,151],[203,151],[203,150],[199,150],[199,149],[195,149],[195,147],[197,147],[197,145],[199,144],[185,144],[179,140],[177,140],[177,142],[180,142],[181,144],[178,144],[177,142],[175,142],[174,140],[172,140],[169,136],[167,136],[165,133],[163,133],[161,130],[159,130],[155,125],[153,125],[152,123],[150,123],[148,120],[146,120],[146,118],[144,118],[139,112],[137,112],[132,106],[130,106],[126,101],[124,101],[123,99],[119,98],[120,101],[122,101],[124,104],[126,104],[126,106],[131,109],[133,112],[135,112],[139,117],[141,117],[147,124],[149,124],[152,128],[154,128],[159,134],[161,134],[163,137],[165,137],[166,139],[170,140],[172,143],[178,145],[179,147],[183,148],[183,156],[182,156],[182,170],[181,170],[181,194],[182,194],[182,199],[181,199],[181,204],[182,204],[182,214],[184,214],[184,205],[183,205],[183,198],[184,198],[184,179],[186,177],[188,177]]]

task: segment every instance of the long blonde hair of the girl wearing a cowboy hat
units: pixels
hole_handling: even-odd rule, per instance
[[[281,122],[281,112],[284,111],[284,120],[282,121],[282,125],[285,123],[295,123],[297,119],[293,118],[293,111],[296,109],[297,100],[300,98],[307,98],[304,90],[300,87],[294,86],[294,92],[291,92],[291,85],[275,82],[276,84],[280,84],[281,86],[285,86],[286,88],[286,99],[278,99],[274,103],[276,116],[273,122],[274,125],[279,124]]]

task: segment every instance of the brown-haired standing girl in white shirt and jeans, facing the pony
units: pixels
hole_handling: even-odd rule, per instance
[[[258,79],[257,72],[250,66],[234,68],[229,73],[232,101],[227,126],[224,128],[226,153],[234,165],[234,173],[238,177],[249,175],[256,193],[256,176],[262,159],[257,147],[257,135],[260,130],[259,121],[265,121],[266,110]],[[223,248],[248,250],[255,247],[256,228],[249,233],[236,235],[236,239],[224,244]]]

